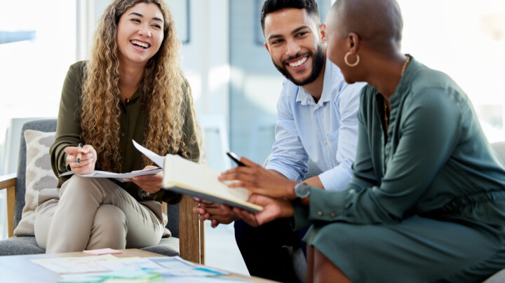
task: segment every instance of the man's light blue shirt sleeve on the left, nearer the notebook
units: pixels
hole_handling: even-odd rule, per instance
[[[277,102],[276,138],[265,167],[276,170],[290,180],[302,181],[307,173],[309,156],[298,135],[287,88],[288,85],[284,82]]]

